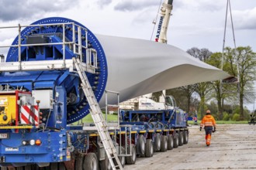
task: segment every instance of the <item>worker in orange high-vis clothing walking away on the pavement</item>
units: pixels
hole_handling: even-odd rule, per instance
[[[210,110],[206,110],[206,116],[202,118],[200,131],[202,131],[202,128],[206,131],[206,145],[209,146],[211,144],[212,133],[216,131],[216,121],[211,115]]]

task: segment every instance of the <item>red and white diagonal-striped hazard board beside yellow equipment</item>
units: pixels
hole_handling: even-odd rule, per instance
[[[20,122],[21,124],[39,125],[39,110],[38,106],[24,105],[20,109]]]

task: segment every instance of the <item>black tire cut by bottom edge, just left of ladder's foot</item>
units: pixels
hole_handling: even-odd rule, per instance
[[[95,155],[95,153],[88,153],[85,155],[85,159],[83,162],[83,169],[86,170],[98,170],[99,169],[99,163],[98,158]]]

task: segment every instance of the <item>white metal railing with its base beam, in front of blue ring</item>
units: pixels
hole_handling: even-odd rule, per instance
[[[71,25],[71,41],[66,41],[65,37],[65,28],[66,26]],[[62,27],[62,42],[42,42],[42,43],[32,43],[32,44],[22,44],[22,28],[37,28],[37,30],[41,30],[42,27],[44,26],[61,26]],[[76,54],[80,60],[85,63],[85,71],[88,71],[90,73],[95,73],[95,69],[97,68],[97,51],[95,49],[88,49],[88,30],[82,26],[79,26],[78,24],[75,24],[74,22],[64,22],[64,23],[51,23],[51,24],[37,24],[37,25],[28,25],[28,26],[5,26],[5,27],[0,27],[0,29],[18,29],[18,41],[17,44],[14,45],[5,45],[5,46],[0,46],[0,48],[7,48],[7,47],[17,47],[18,48],[18,66],[17,62],[8,62],[9,65],[2,65],[2,69],[0,71],[17,71],[17,70],[39,70],[38,68],[34,68],[34,66],[28,66],[30,64],[33,65],[32,61],[22,61],[21,59],[21,48],[22,47],[29,47],[29,46],[56,46],[56,45],[62,45],[62,51],[63,51],[63,57],[62,57],[62,62],[60,60],[57,61],[57,66],[54,66],[53,64],[50,64],[52,60],[50,60],[50,63],[47,62],[41,62],[41,61],[36,61],[37,64],[43,64],[46,66],[43,66],[41,69],[42,70],[51,70],[51,69],[68,69],[71,67],[70,64],[67,64],[67,60],[72,60],[72,59],[66,59],[65,56],[65,50],[66,46],[73,46],[73,53]],[[77,30],[76,30],[77,29]],[[82,31],[85,32],[85,36],[82,36]],[[78,42],[76,42],[75,39],[78,39]],[[83,42],[85,43],[85,46],[83,45]],[[82,51],[85,49],[86,53],[86,59],[83,59]],[[22,63],[26,63],[26,66],[22,66]],[[61,66],[60,66],[60,63]],[[1,63],[0,63],[1,64]],[[10,68],[14,64],[15,66],[13,68]],[[66,65],[67,64],[67,65]],[[6,69],[6,67],[9,67]],[[29,69],[28,69],[29,67]],[[5,70],[6,69],[6,70]]]

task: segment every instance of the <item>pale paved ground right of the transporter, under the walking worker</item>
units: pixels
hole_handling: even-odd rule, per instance
[[[218,125],[209,147],[199,126],[189,131],[189,144],[137,158],[135,165],[124,169],[256,169],[256,125]]]

